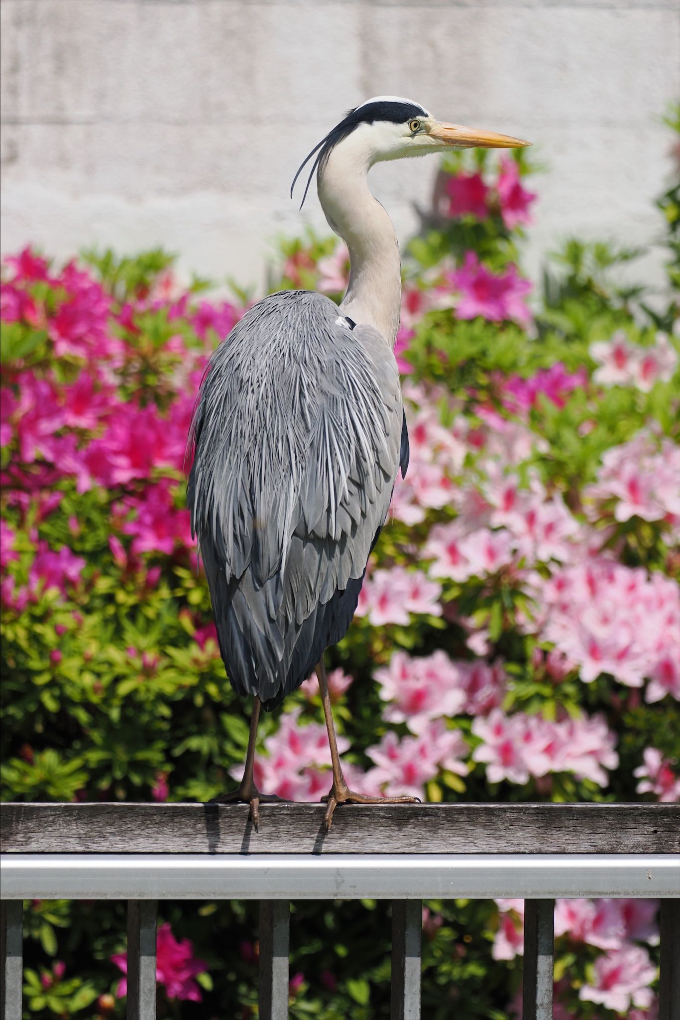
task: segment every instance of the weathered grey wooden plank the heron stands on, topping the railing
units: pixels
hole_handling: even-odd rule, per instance
[[[677,804],[2,804],[2,851],[30,854],[672,854]]]

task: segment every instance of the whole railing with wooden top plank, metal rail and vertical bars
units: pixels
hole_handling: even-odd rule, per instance
[[[526,901],[524,1020],[553,1016],[556,897],[662,899],[660,1020],[680,1018],[680,806],[3,804],[1,1020],[27,899],[128,901],[127,1017],[156,1015],[156,902],[260,900],[260,1020],[289,1003],[289,903],[393,902],[391,1016],[420,1016],[422,900]],[[263,899],[264,898],[264,899]]]

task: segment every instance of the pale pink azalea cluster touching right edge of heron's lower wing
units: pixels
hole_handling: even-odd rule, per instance
[[[374,627],[385,623],[408,626],[412,613],[440,616],[440,595],[441,585],[422,570],[375,570],[364,580],[355,615],[367,616]]]

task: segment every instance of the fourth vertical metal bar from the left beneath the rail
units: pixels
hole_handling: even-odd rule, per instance
[[[420,1020],[422,900],[391,902],[391,1020]]]

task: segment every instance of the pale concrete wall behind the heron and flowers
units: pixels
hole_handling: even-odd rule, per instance
[[[672,170],[676,0],[0,0],[2,250],[162,244],[242,283],[301,215],[293,174],[378,94],[519,135],[546,165],[529,264],[561,237],[645,244]],[[402,238],[435,160],[382,164]],[[660,278],[659,257],[644,272]]]

